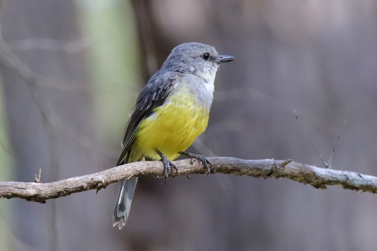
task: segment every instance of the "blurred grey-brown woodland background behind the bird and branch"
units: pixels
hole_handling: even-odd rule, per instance
[[[44,183],[113,167],[128,114],[179,43],[220,67],[207,131],[190,148],[377,175],[373,0],[3,0],[0,181]],[[46,204],[0,199],[0,249],[374,251],[377,196],[287,179],[139,179],[126,226],[118,184]]]

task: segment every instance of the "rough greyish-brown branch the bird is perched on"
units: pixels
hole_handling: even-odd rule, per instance
[[[327,185],[362,192],[377,193],[377,177],[356,172],[324,169],[291,160],[241,160],[229,157],[211,157],[211,173],[247,175],[261,178],[288,178],[316,188]],[[190,173],[203,173],[198,161],[174,161],[178,173],[172,177]],[[0,198],[21,198],[45,203],[47,199],[67,196],[85,190],[100,190],[131,176],[158,176],[162,173],[160,161],[140,161],[113,167],[98,173],[55,181],[52,183],[0,182]]]

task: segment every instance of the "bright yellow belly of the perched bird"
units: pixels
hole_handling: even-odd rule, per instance
[[[196,104],[193,94],[170,98],[141,122],[132,146],[132,159],[158,160],[156,150],[159,150],[169,160],[174,160],[178,152],[185,151],[207,128],[209,111]]]

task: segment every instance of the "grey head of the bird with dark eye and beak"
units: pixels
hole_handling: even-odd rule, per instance
[[[233,60],[234,57],[219,55],[215,48],[207,44],[184,43],[172,50],[161,70],[192,73],[211,81],[215,78],[219,64]]]

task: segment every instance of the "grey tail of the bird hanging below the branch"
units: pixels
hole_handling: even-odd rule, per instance
[[[113,215],[114,227],[118,224],[118,228],[121,229],[126,224],[137,182],[138,177],[131,177],[121,181]]]

